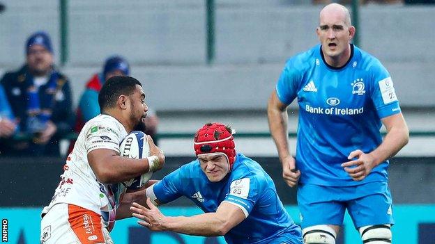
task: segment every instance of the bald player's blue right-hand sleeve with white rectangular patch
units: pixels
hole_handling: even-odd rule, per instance
[[[399,100],[391,76],[379,61],[372,67],[372,76],[370,95],[378,116],[383,118],[400,113]]]

